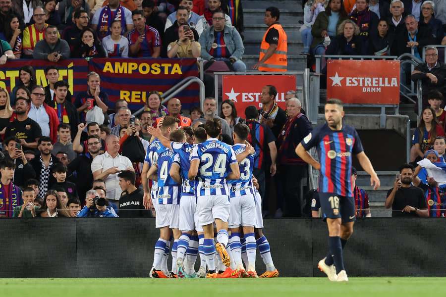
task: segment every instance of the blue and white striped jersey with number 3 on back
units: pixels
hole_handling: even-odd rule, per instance
[[[236,144],[232,146],[235,155],[245,151],[246,145]],[[240,178],[238,180],[229,180],[230,197],[240,197],[244,195],[253,195],[252,170],[254,168],[255,153],[248,155],[239,164]]]

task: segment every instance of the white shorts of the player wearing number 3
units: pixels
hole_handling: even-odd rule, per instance
[[[256,224],[256,203],[252,194],[231,197],[229,228],[254,227]]]

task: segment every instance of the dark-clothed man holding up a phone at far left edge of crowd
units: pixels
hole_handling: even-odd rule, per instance
[[[36,173],[25,157],[20,140],[15,136],[10,136],[3,141],[3,148],[5,150],[5,161],[15,165],[12,181],[18,187],[23,187],[27,180],[36,176]]]

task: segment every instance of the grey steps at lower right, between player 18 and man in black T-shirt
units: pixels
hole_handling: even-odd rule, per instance
[[[381,181],[381,188],[379,190],[373,190],[373,187],[370,186],[370,175],[365,171],[358,171],[356,185],[364,189],[369,195],[370,212],[373,217],[391,216],[391,210],[384,208],[384,202],[386,201],[387,191],[393,188],[395,175],[398,173],[398,171],[377,171]]]

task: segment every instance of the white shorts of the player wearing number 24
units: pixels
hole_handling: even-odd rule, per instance
[[[227,222],[229,208],[230,203],[227,195],[198,196],[197,212],[200,226],[214,223],[216,219]]]

